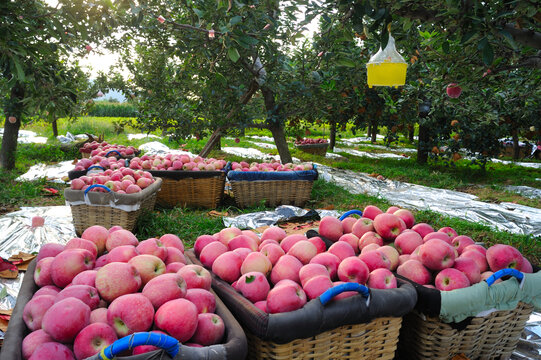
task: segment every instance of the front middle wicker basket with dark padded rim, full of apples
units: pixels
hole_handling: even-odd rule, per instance
[[[213,289],[245,329],[250,359],[339,359],[352,348],[362,349],[356,359],[393,358],[415,289],[396,279],[376,288],[385,277],[367,283],[350,245],[332,244],[277,226],[260,236],[231,227],[199,236],[186,255],[212,272]]]

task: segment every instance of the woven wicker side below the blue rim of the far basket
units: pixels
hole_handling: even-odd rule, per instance
[[[270,207],[278,205],[303,207],[310,200],[313,184],[313,180],[231,181],[231,189],[235,202],[241,208],[258,205],[262,201]]]

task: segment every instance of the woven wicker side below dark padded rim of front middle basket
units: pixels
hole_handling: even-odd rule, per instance
[[[245,330],[248,359],[394,359],[402,318],[345,325],[287,344],[264,341]]]

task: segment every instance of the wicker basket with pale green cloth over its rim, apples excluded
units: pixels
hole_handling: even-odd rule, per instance
[[[522,274],[504,269],[486,282],[452,291],[440,292],[412,283],[418,292],[418,303],[404,317],[399,358],[446,360],[457,355],[469,359],[510,358],[533,311],[532,302],[538,306],[541,303],[541,272],[536,271]],[[511,278],[504,285],[492,285],[497,278],[509,275],[519,280]],[[524,289],[528,288],[537,289],[533,298],[531,292],[526,295]],[[487,299],[498,299],[501,305],[485,305]],[[480,311],[464,316],[462,311],[472,308]]]

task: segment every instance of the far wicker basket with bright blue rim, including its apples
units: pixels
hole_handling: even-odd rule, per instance
[[[227,179],[239,207],[258,205],[261,202],[267,206],[302,207],[310,200],[314,180],[318,177],[316,166],[309,163],[241,161],[232,162],[229,167]]]

